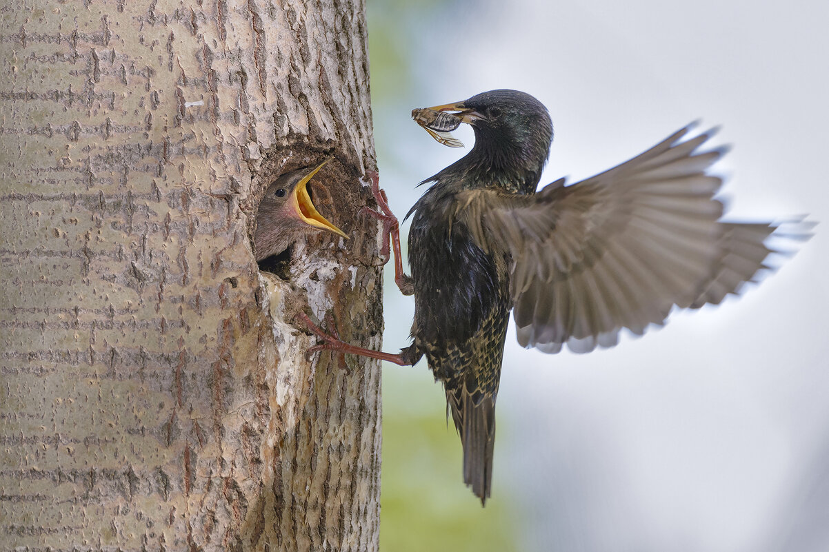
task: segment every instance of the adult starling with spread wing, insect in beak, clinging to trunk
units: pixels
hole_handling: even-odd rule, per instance
[[[721,180],[707,170],[725,150],[699,151],[710,133],[686,138],[683,128],[618,167],[536,193],[553,138],[541,102],[492,90],[413,112],[453,145],[444,131],[457,124],[430,112],[470,124],[475,145],[424,181],[432,185],[407,215],[414,341],[391,355],[313,329],[325,340],[318,349],[401,365],[426,356],[463,443],[464,481],[483,503],[510,311],[522,346],[613,346],[623,328],[641,335],[673,307],[737,293],[764,268],[775,225],[720,221]]]

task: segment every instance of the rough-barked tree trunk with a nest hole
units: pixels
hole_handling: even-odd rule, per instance
[[[364,6],[11,2],[0,19],[0,550],[376,550]],[[351,240],[251,250],[280,173]]]

